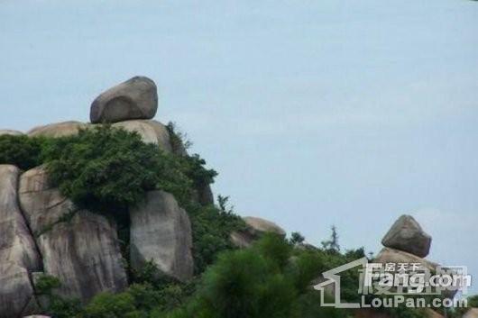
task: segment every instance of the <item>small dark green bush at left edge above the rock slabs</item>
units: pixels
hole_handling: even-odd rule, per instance
[[[45,140],[28,136],[0,136],[0,164],[14,165],[23,170],[41,164],[41,151]]]

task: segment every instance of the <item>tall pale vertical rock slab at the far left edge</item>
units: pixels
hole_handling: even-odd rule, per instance
[[[32,234],[18,206],[20,170],[0,165],[0,317],[28,314],[35,303],[29,271],[41,268]]]

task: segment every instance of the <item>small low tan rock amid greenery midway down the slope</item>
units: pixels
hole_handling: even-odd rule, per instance
[[[259,239],[266,232],[276,233],[282,237],[286,236],[286,232],[271,221],[253,216],[246,216],[243,220],[247,228],[244,231],[234,231],[230,235],[231,242],[238,248],[244,249],[251,246],[253,241]]]

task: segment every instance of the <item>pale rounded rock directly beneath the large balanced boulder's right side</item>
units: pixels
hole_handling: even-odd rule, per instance
[[[145,143],[158,145],[162,150],[171,152],[170,133],[162,123],[152,120],[135,120],[112,125],[128,132],[138,132]]]

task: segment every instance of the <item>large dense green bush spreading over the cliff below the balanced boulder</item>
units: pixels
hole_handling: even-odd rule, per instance
[[[44,149],[51,181],[78,205],[117,212],[160,188],[188,202],[196,182],[211,182],[214,170],[198,157],[177,157],[134,132],[101,126],[54,140]]]

